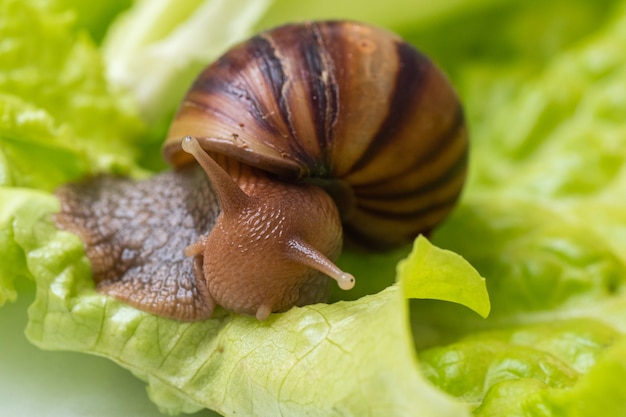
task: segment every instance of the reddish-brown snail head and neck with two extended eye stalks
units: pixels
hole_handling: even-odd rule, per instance
[[[209,305],[264,320],[272,311],[317,301],[316,287],[326,288],[327,281],[320,272],[343,289],[354,286],[354,277],[332,261],[341,250],[341,221],[324,190],[228,160],[227,172],[195,138],[185,138],[183,149],[205,170],[222,207],[211,233],[185,250],[201,256],[196,280],[206,282]]]

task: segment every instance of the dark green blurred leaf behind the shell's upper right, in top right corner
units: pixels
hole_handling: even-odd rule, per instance
[[[404,27],[404,35],[454,80],[471,123],[475,147],[477,142],[490,137],[482,129],[492,128],[495,113],[506,119],[506,113],[500,111],[502,106],[510,108],[511,101],[526,83],[532,82],[556,56],[597,36],[606,22],[620,13],[623,1],[454,3],[448,4],[445,19],[430,16],[421,24]],[[556,89],[557,85],[552,88]],[[502,127],[509,127],[506,135],[515,134],[503,121]],[[494,157],[495,161],[490,163],[497,162],[498,157]]]

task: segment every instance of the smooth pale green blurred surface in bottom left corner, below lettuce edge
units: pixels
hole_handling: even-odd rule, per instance
[[[24,327],[34,282],[17,284],[20,298],[0,313],[3,416],[159,415],[145,384],[114,362],[93,355],[43,351],[31,344],[24,337]],[[206,411],[201,415],[217,416]]]

